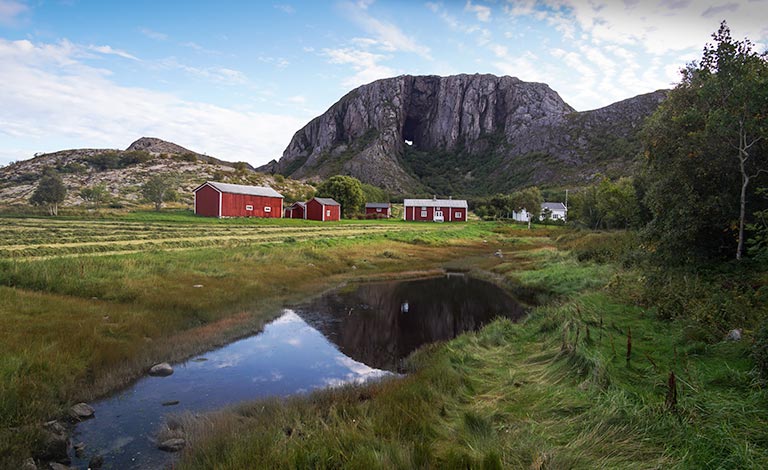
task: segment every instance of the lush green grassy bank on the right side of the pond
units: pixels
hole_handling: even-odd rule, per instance
[[[694,341],[629,300],[639,273],[501,236],[483,275],[548,305],[425,348],[404,379],[175,417],[182,467],[768,467],[748,340]]]

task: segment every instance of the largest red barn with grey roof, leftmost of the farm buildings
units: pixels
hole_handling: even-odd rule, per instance
[[[283,216],[283,196],[272,188],[206,181],[194,189],[195,214],[206,217]]]

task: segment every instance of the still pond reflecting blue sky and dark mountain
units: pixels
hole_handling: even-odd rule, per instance
[[[96,454],[104,468],[163,468],[175,456],[153,435],[167,413],[205,412],[239,402],[308,393],[402,372],[418,347],[475,330],[523,308],[493,284],[464,275],[363,283],[285,309],[252,337],[174,365],[168,377],[145,377],[92,404],[80,423],[73,465]]]

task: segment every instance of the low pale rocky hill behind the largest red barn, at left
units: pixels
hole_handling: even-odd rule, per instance
[[[103,185],[106,204],[131,207],[141,202],[141,185],[153,175],[165,174],[178,183],[182,205],[192,204],[192,190],[206,180],[267,185],[286,196],[304,199],[314,194],[305,183],[254,172],[250,165],[230,163],[152,137],[142,137],[125,150],[74,149],[37,155],[0,168],[0,207],[27,204],[46,168],[55,168],[67,187],[64,206],[85,204],[84,188]]]

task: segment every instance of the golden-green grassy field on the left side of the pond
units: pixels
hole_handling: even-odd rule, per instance
[[[303,230],[316,227],[290,222],[0,222],[0,242],[24,244],[33,253],[0,259],[2,468],[27,457],[39,438],[36,424],[68,404],[115,390],[152,363],[257,331],[286,302],[491,250],[482,243],[487,227],[478,224],[339,224],[308,238]],[[279,241],[247,239],[259,230],[279,231]],[[120,255],[67,248],[85,239],[88,246],[158,243],[180,232],[205,236],[210,245]],[[42,247],[46,256],[34,255]]]

